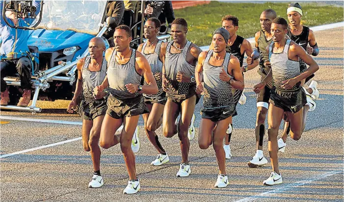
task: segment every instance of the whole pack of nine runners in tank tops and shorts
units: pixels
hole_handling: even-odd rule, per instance
[[[285,151],[289,133],[292,139],[300,139],[307,111],[315,109],[313,99],[319,95],[317,82],[312,81],[307,89],[303,87],[318,70],[318,64],[310,56],[318,55],[314,33],[300,24],[302,8],[298,3],[289,5],[287,16],[289,24],[277,18],[272,9],[262,12],[262,30],[255,34],[256,50],[237,35],[238,18],[232,15],[223,17],[222,27],[213,32],[209,51],[202,51],[187,40],[187,23],[183,18],[173,21],[172,41],[167,43],[157,38],[159,20],[148,19],[143,30],[147,40],[137,51],[130,48],[132,35],[126,25],[116,27],[113,48],[106,50],[103,39],[93,38],[88,47],[90,54],[78,61],[77,88],[67,109],[73,112],[78,108],[83,119],[83,148],[90,151],[94,168],[88,187],[98,188],[104,184],[99,145],[108,149],[119,143],[129,173],[123,193],[134,194],[140,190],[133,151],[139,150],[137,123],[141,114],[146,135],[158,151],[151,164],[160,166],[169,161],[155,132],[162,125],[165,137],[178,134],[180,140],[182,162],[176,177],[189,176],[189,141],[195,136],[194,110],[201,95],[204,100],[199,147],[208,149],[213,145],[219,168],[214,186],[226,187],[229,184],[226,158],[232,157],[232,117],[237,115],[238,102],[243,104],[246,99],[242,93],[243,75],[258,64],[261,83],[254,86],[258,94],[257,152],[247,164],[252,168],[267,163],[263,155],[267,113],[268,151],[273,172],[263,183],[282,183],[278,151]],[[244,54],[247,55],[245,66]],[[277,140],[282,119],[285,130]],[[118,132],[122,125],[123,129]]]

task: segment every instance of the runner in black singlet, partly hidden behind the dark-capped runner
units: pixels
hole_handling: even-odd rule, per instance
[[[222,27],[225,28],[230,35],[230,38],[228,40],[228,44],[226,46],[226,51],[231,53],[232,55],[236,56],[239,59],[240,67],[242,72],[246,72],[248,69],[252,69],[258,65],[258,60],[255,60],[253,64],[246,65],[245,67],[242,66],[244,55],[250,55],[253,56],[258,54],[257,51],[253,51],[252,46],[250,42],[248,42],[243,37],[239,36],[237,34],[238,28],[239,28],[239,19],[232,15],[226,15],[221,20]],[[210,50],[213,50],[213,43],[210,45]],[[256,53],[256,54],[255,54]],[[237,104],[239,100],[244,99],[246,100],[245,95],[243,95],[243,90],[235,89],[233,88],[233,98],[234,103],[237,107]],[[241,102],[244,103],[244,102]],[[233,114],[233,116],[236,116],[238,113],[237,111]],[[226,159],[232,158],[232,152],[231,152],[231,137],[233,132],[233,122],[231,120],[230,125],[226,131],[228,135],[225,135],[225,145],[223,146],[225,153],[226,153]]]

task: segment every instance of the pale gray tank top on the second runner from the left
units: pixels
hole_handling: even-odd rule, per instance
[[[126,64],[119,64],[116,61],[116,51],[114,50],[107,68],[107,79],[109,83],[109,92],[117,99],[129,99],[141,96],[140,93],[130,93],[126,84],[132,83],[139,85],[142,76],[136,72],[135,56],[136,50],[132,49],[132,55]]]

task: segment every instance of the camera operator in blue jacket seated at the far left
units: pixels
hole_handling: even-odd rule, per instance
[[[4,1],[0,2],[0,12],[2,15]],[[40,11],[40,1],[33,1],[32,5],[36,7],[36,15]],[[9,6],[9,4],[7,4]],[[6,7],[7,8],[7,7]],[[35,19],[17,18],[16,13],[12,10],[5,11],[7,22],[12,26],[29,26]],[[9,102],[8,87],[3,80],[5,76],[12,76],[16,73],[20,75],[21,87],[24,89],[23,97],[20,99],[18,106],[26,107],[31,100],[31,69],[32,65],[27,56],[29,49],[27,47],[29,30],[12,28],[6,24],[4,19],[0,18],[0,105],[7,105]],[[27,52],[27,53],[26,53]]]

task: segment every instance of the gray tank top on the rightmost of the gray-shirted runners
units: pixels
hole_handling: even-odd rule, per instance
[[[300,75],[300,63],[299,61],[294,61],[288,58],[288,51],[291,40],[288,39],[286,45],[284,46],[283,52],[273,53],[274,42],[270,44],[269,47],[269,59],[272,69],[272,80],[276,88],[281,88],[283,81],[291,79],[295,76]],[[300,83],[292,87],[291,90],[299,88]]]

